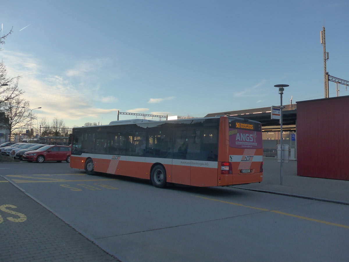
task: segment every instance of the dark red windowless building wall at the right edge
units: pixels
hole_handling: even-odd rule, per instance
[[[349,180],[349,96],[297,102],[297,175]]]

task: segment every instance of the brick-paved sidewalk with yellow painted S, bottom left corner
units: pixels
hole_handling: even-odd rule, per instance
[[[0,176],[0,261],[118,261]]]

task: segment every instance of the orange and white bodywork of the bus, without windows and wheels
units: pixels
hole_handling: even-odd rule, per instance
[[[252,135],[257,137],[256,132],[253,131],[253,133],[252,130],[246,129],[244,131],[239,131],[239,129],[236,130],[233,127],[229,127],[229,119],[231,118],[220,117],[217,161],[83,153],[82,155],[71,155],[70,167],[85,169],[86,160],[91,158],[94,161],[94,171],[96,172],[131,176],[141,179],[150,179],[150,172],[153,166],[163,165],[166,170],[167,182],[196,187],[214,187],[261,182],[263,178],[263,173],[261,172],[261,163],[263,161],[263,148],[260,143],[261,133],[257,131],[260,142],[255,139],[254,142],[257,141],[257,143],[253,145],[250,142],[241,145],[239,144],[240,141],[235,138],[237,136],[234,136],[236,133],[240,132],[240,134],[246,134],[249,137]],[[244,124],[242,119],[238,121]],[[233,140],[231,140],[232,137]],[[225,165],[227,165],[227,163],[229,164],[229,174],[221,174],[222,162],[225,162]]]

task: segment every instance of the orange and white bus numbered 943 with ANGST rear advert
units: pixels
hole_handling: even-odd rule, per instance
[[[261,182],[261,123],[218,116],[77,127],[70,167],[198,187]]]

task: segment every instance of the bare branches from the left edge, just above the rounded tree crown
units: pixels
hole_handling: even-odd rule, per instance
[[[0,63],[0,105],[8,100],[24,94],[22,89],[18,88],[20,76],[14,78],[7,77],[6,66],[1,60]]]

